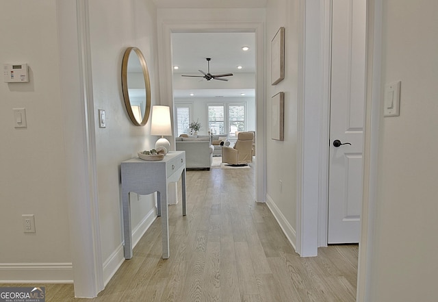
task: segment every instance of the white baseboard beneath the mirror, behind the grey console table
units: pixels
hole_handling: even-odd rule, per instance
[[[151,224],[157,218],[157,211],[155,207],[149,211],[143,220],[133,229],[132,231],[132,247],[136,247],[144,233],[149,229]],[[110,257],[103,262],[103,284],[106,286],[110,282],[111,278],[117,272],[118,268],[125,261],[125,255],[123,254],[123,243],[122,242],[117,249],[110,255]]]

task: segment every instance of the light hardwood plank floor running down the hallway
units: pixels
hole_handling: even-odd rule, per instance
[[[254,170],[188,171],[188,215],[181,203],[169,206],[170,259],[161,259],[157,218],[99,297],[74,299],[72,284],[41,284],[46,301],[355,301],[358,247],[300,257],[268,207],[255,203]]]

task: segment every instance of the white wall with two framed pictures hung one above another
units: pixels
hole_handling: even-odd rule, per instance
[[[295,244],[298,152],[298,39],[300,1],[270,0],[266,13],[266,142],[267,203],[283,230]],[[285,79],[271,86],[270,41],[285,27]],[[271,139],[271,98],[285,92],[284,140]],[[282,185],[280,184],[282,182]]]

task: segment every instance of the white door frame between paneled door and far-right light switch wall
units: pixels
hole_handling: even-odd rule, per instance
[[[371,302],[374,216],[376,215],[378,121],[381,114],[383,0],[367,1],[367,86],[363,153],[362,229],[357,273],[357,302]]]

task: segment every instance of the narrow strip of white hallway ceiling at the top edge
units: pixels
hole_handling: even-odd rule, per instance
[[[268,0],[153,0],[157,8],[266,8]]]

